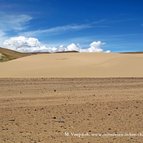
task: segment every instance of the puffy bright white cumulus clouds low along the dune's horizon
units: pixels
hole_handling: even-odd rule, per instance
[[[106,52],[102,49],[104,45],[101,41],[93,41],[88,48],[81,48],[79,44],[71,43],[69,45],[60,45],[57,47],[50,47],[47,44],[41,43],[38,39],[33,37],[12,37],[3,42],[3,46],[11,50],[19,52],[65,52],[65,51],[78,51],[78,52]]]

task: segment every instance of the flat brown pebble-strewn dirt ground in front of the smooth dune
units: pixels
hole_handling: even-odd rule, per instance
[[[141,135],[143,78],[0,79],[0,143],[142,143]]]

